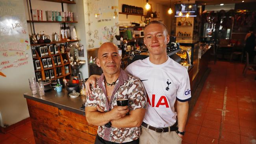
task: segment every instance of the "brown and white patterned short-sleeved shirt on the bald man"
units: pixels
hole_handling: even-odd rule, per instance
[[[85,107],[96,107],[98,105],[104,111],[110,111],[115,105],[117,105],[118,98],[128,98],[133,101],[130,102],[129,110],[147,107],[147,96],[142,82],[130,76],[124,70],[120,70],[119,78],[116,81],[115,88],[111,100],[108,102],[107,92],[104,83],[104,74],[100,76],[96,81],[96,89],[92,90],[92,95],[87,96]],[[141,135],[140,127],[131,128],[117,128],[117,127],[105,127],[98,126],[98,135],[104,140],[123,143],[136,140]]]

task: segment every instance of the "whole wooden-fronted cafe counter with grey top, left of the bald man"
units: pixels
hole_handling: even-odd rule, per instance
[[[51,90],[40,97],[24,94],[37,144],[93,144],[97,126],[89,125],[80,107],[86,96],[71,98],[67,90]]]

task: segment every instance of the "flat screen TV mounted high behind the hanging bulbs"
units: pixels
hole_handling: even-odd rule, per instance
[[[191,8],[189,6],[191,5]],[[189,17],[197,17],[197,4],[175,4],[175,17],[180,17],[179,13],[182,12],[182,17],[186,17],[189,12]]]

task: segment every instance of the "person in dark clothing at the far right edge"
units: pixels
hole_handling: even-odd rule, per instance
[[[245,36],[245,51],[248,52],[249,54],[249,62],[252,63],[255,52],[254,52],[254,47],[255,47],[255,34],[253,32],[253,28],[249,28],[249,33],[246,34]]]

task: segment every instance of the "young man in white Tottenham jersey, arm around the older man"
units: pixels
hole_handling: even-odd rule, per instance
[[[139,143],[181,144],[185,133],[188,100],[191,98],[187,70],[167,56],[169,35],[165,24],[160,21],[150,22],[144,29],[144,35],[149,57],[137,60],[126,68],[126,72],[141,79],[148,96]],[[87,85],[95,83],[93,79],[97,77],[90,77]],[[174,111],[176,100],[177,113]]]

